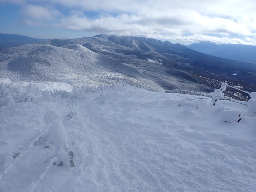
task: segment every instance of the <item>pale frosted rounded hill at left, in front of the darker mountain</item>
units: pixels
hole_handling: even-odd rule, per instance
[[[117,72],[115,62],[81,45],[23,45],[1,51],[1,57],[1,77],[13,81],[64,82],[80,87],[125,82],[140,84],[136,78]],[[126,68],[123,66],[121,70]],[[135,76],[131,70],[127,73]],[[142,82],[149,87],[153,84],[152,89],[154,86],[161,89],[146,79]]]

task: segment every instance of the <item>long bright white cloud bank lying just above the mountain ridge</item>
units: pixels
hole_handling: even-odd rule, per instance
[[[208,17],[199,15],[196,12],[186,12],[186,15],[176,13],[155,12],[147,15],[120,14],[116,17],[101,17],[89,19],[85,15],[72,15],[61,22],[61,27],[72,30],[85,30],[94,33],[115,33],[119,35],[138,35],[147,37],[177,37],[195,41],[220,41],[229,43],[253,44],[246,40],[239,41],[232,36],[244,36],[245,39],[255,34],[248,29],[243,22],[220,17]],[[179,16],[179,17],[178,17]],[[184,34],[205,34],[194,35],[184,38]],[[207,34],[211,34],[207,35]],[[212,38],[212,35],[223,36]],[[193,37],[193,38],[191,38]],[[203,38],[202,38],[203,37]],[[207,40],[208,38],[208,40]]]

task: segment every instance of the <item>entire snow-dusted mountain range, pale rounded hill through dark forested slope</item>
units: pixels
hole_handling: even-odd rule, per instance
[[[78,87],[131,84],[154,91],[210,92],[224,80],[256,91],[256,65],[156,39],[97,35],[54,39],[0,51],[0,76]]]

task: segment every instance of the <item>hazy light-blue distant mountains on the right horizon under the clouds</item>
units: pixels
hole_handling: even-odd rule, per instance
[[[216,57],[256,64],[256,46],[240,44],[217,45],[210,42],[200,42],[198,44],[190,44],[187,47]]]

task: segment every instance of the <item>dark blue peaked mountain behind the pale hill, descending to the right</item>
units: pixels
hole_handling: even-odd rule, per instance
[[[162,42],[143,37],[97,35],[80,39],[56,39],[52,40],[52,45],[63,46],[78,42],[93,52],[112,58],[118,63],[125,61],[130,67],[141,68],[143,73],[158,79],[157,83],[166,90],[177,89],[175,87],[177,82],[172,83],[173,79],[168,79],[169,77],[181,80],[182,84],[192,82],[214,88],[218,87],[221,81],[227,80],[230,84],[242,86],[247,91],[256,90],[255,65],[203,54],[168,41]],[[159,82],[159,79],[163,79],[162,75],[167,78],[167,82]],[[189,89],[189,86],[185,89]]]

